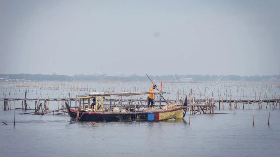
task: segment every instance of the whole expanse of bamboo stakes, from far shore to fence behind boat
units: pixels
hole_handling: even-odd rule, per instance
[[[21,108],[23,110],[29,110],[31,107],[27,102],[35,101],[35,112],[39,114],[47,114],[55,111],[62,111],[62,113],[66,113],[64,108],[64,101],[68,101],[69,104],[71,102],[75,102],[75,107],[81,106],[82,100],[76,98],[70,98],[70,93],[73,96],[82,95],[85,93],[89,93],[92,91],[107,91],[107,92],[136,92],[136,91],[146,91],[150,88],[149,83],[142,82],[108,82],[100,83],[100,82],[5,82],[4,85],[1,83],[0,92],[5,97],[1,99],[4,102],[3,109],[11,109],[11,102],[14,101],[21,102]],[[208,83],[212,85],[212,83]],[[21,90],[25,92],[22,94],[24,98],[7,98],[7,94],[9,97],[11,95],[18,95],[18,93],[22,93]],[[187,93],[187,88],[191,88],[191,93]],[[194,90],[192,90],[192,88]],[[9,89],[9,90],[8,90]],[[254,82],[253,84],[250,82],[220,82],[219,86],[217,86],[216,90],[213,93],[218,93],[219,99],[213,99],[213,93],[211,99],[204,99],[205,93],[209,91],[210,87],[205,86],[205,83],[168,83],[168,85],[164,86],[165,91],[169,91],[166,93],[168,96],[175,96],[174,99],[168,99],[169,103],[183,105],[183,97],[188,95],[188,105],[184,106],[186,110],[189,111],[190,114],[196,113],[214,113],[217,108],[229,108],[233,109],[236,112],[237,106],[243,104],[244,105],[252,103],[258,103],[259,109],[263,108],[263,104],[266,103],[266,109],[268,109],[268,105],[271,106],[272,109],[277,108],[277,104],[279,104],[280,97],[277,94],[280,90],[280,84],[278,82],[270,82],[270,83],[262,83],[262,82]],[[265,89],[265,90],[263,90]],[[15,91],[14,93],[12,91]],[[27,99],[27,92],[36,92],[35,96],[38,98],[35,99]],[[263,92],[261,92],[263,91]],[[62,95],[62,98],[43,98],[45,93],[47,92],[47,96],[50,95]],[[61,93],[60,93],[61,92]],[[67,92],[67,93],[66,93]],[[66,98],[69,96],[69,98]],[[234,97],[233,97],[234,96]],[[2,97],[2,96],[1,96]],[[20,97],[20,96],[19,96]],[[41,99],[39,98],[41,97]],[[196,99],[197,97],[198,99]],[[225,98],[225,99],[223,99]],[[57,101],[58,108],[55,110],[50,110],[50,102]],[[129,99],[107,99],[105,102],[109,102],[110,107],[112,104],[125,105],[124,102],[129,101]],[[156,102],[158,100],[155,99]],[[130,102],[138,103],[138,105],[145,105],[146,99],[134,99]],[[219,103],[219,107],[215,105],[215,103]],[[52,104],[52,103],[51,103]],[[77,105],[78,104],[78,105]],[[225,106],[228,104],[228,106]],[[105,104],[108,105],[108,104]],[[129,104],[128,104],[129,105]],[[222,105],[222,106],[221,106]],[[14,105],[15,106],[15,105]],[[254,108],[254,105],[253,105]],[[279,105],[280,108],[280,105]],[[14,108],[17,109],[17,108]],[[271,107],[270,107],[271,109]]]

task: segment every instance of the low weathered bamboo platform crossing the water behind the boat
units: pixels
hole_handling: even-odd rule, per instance
[[[185,103],[185,100],[187,103]],[[270,105],[272,105],[272,109],[276,109],[277,105],[280,103],[280,99],[265,99],[265,100],[223,100],[223,99],[186,99],[185,100],[170,100],[167,99],[168,104],[176,104],[178,106],[183,106],[184,109],[191,111],[192,114],[195,113],[213,113],[214,109],[216,108],[235,108],[237,109],[237,105],[242,104],[243,109],[244,105],[250,105],[252,103],[258,103],[258,108],[262,109],[263,105],[266,104],[265,108],[269,108]],[[0,101],[3,101],[4,104],[2,104],[3,110],[10,110],[14,109],[14,107],[11,107],[15,104],[16,102],[21,102],[21,108],[15,108],[15,109],[22,109],[22,110],[35,110],[33,114],[48,114],[48,113],[53,113],[62,111],[64,114],[66,113],[65,111],[65,106],[64,102],[68,102],[72,108],[77,108],[81,107],[83,105],[83,99],[79,98],[46,98],[46,99],[38,99],[38,98],[1,98]],[[52,103],[53,107],[50,107],[50,102],[56,101],[57,103]],[[12,103],[13,102],[13,103]],[[35,102],[35,108],[31,108],[31,102]],[[165,101],[161,101],[162,106],[167,105]],[[185,104],[184,104],[185,103]],[[218,105],[216,104],[218,103]],[[265,103],[265,104],[264,104]],[[56,105],[55,105],[56,104]],[[84,105],[88,105],[84,103]],[[147,105],[147,99],[103,99],[103,105],[104,108],[112,108],[115,106],[118,107],[129,107],[129,108],[134,108],[134,107],[146,107]],[[55,106],[55,107],[54,107]],[[159,106],[159,99],[155,99],[155,105],[154,106]],[[57,108],[56,110],[50,110],[50,108]],[[279,105],[280,109],[280,105]],[[60,114],[60,113],[56,113]]]

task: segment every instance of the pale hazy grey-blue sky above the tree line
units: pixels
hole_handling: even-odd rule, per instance
[[[280,74],[280,0],[1,0],[1,74]]]

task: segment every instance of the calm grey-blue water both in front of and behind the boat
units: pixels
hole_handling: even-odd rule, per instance
[[[166,83],[167,97],[182,98],[193,89],[196,98],[207,93],[214,82]],[[150,88],[150,82],[1,82],[1,98],[65,98],[91,91],[136,92]],[[180,95],[174,93],[180,91]],[[280,83],[221,82],[215,99],[277,98]],[[146,96],[143,96],[146,97]],[[1,102],[1,107],[2,107]],[[29,105],[34,108],[35,102]],[[57,102],[51,102],[51,109]],[[217,104],[218,105],[218,104]],[[16,102],[16,107],[20,107]],[[13,108],[13,102],[11,102]],[[250,109],[249,109],[250,107]],[[194,114],[184,120],[161,122],[70,122],[67,115],[21,115],[16,110],[0,111],[1,157],[278,157],[280,155],[280,109],[255,109],[239,104],[224,114]],[[255,104],[257,108],[257,104]],[[5,125],[4,123],[7,125]]]

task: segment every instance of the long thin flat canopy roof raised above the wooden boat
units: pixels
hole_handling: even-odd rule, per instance
[[[79,95],[77,98],[86,99],[86,98],[94,98],[97,96],[131,96],[131,95],[145,95],[145,94],[163,94],[165,92],[153,91],[153,92],[122,92],[122,93],[107,93],[107,92],[91,92],[87,95]]]

